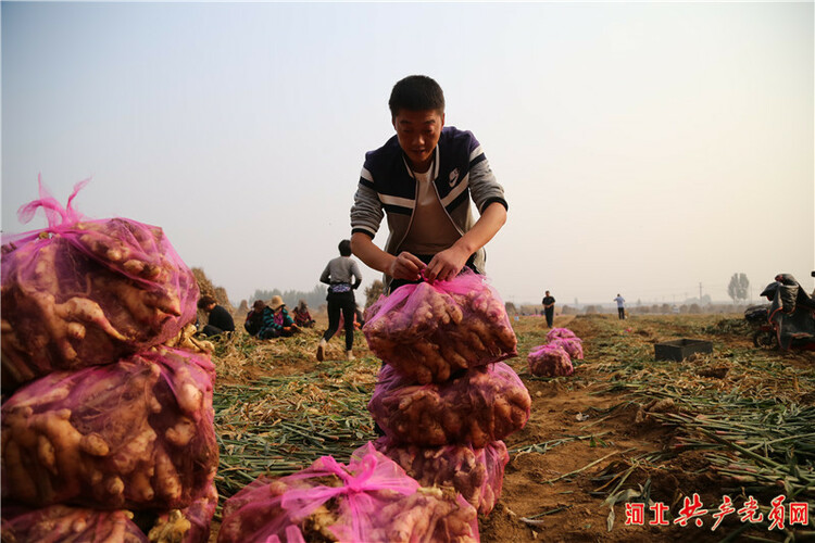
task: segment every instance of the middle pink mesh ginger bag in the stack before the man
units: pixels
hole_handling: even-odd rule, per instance
[[[416,384],[384,366],[368,411],[396,443],[487,446],[521,430],[531,399],[503,362],[466,370],[441,384]]]

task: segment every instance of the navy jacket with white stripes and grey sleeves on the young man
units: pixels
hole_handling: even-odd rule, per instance
[[[436,193],[455,228],[463,236],[475,224],[473,199],[479,213],[493,202],[507,207],[504,190],[496,180],[480,143],[473,132],[447,126],[441,130],[432,172]],[[385,146],[365,153],[365,164],[351,207],[351,232],[376,236],[387,212],[390,233],[385,251],[398,254],[413,219],[416,205],[416,179],[396,136]],[[475,267],[484,273],[486,253],[481,248]]]

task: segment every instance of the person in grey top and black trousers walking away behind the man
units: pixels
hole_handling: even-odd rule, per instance
[[[340,255],[328,262],[319,276],[319,281],[328,285],[328,329],[317,345],[317,359],[325,358],[325,348],[339,328],[340,313],[346,327],[346,359],[354,359],[354,313],[356,299],[354,290],[362,283],[362,274],[356,261],[351,258],[351,241],[343,239],[339,242]]]

